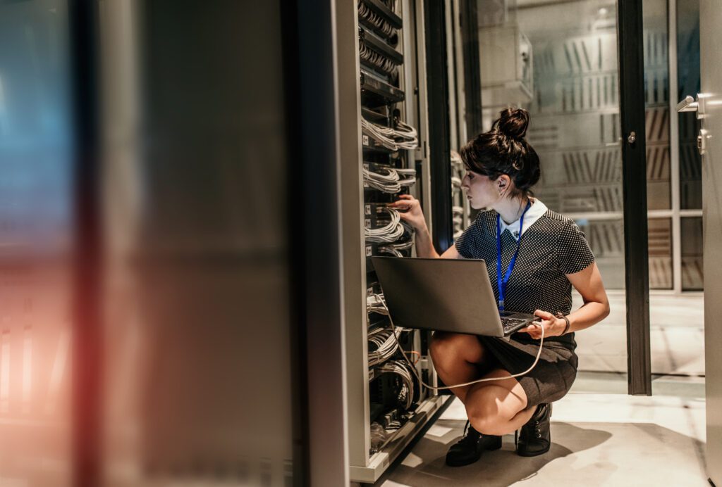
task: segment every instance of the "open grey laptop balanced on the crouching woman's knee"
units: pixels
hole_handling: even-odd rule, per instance
[[[481,259],[373,256],[393,324],[403,328],[509,336],[539,320],[500,312]]]

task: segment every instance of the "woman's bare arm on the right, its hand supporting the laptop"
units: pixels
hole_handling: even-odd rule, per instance
[[[581,308],[567,315],[570,324],[567,333],[589,328],[609,316],[609,299],[606,298],[606,290],[601,282],[601,274],[596,262],[580,272],[566,275],[584,301]],[[552,313],[542,310],[536,310],[534,314],[542,318],[541,326],[544,326],[545,337],[558,336],[564,332],[567,323],[563,318],[557,318]],[[529,333],[534,339],[541,338],[541,330],[538,326],[527,326],[519,331]]]

